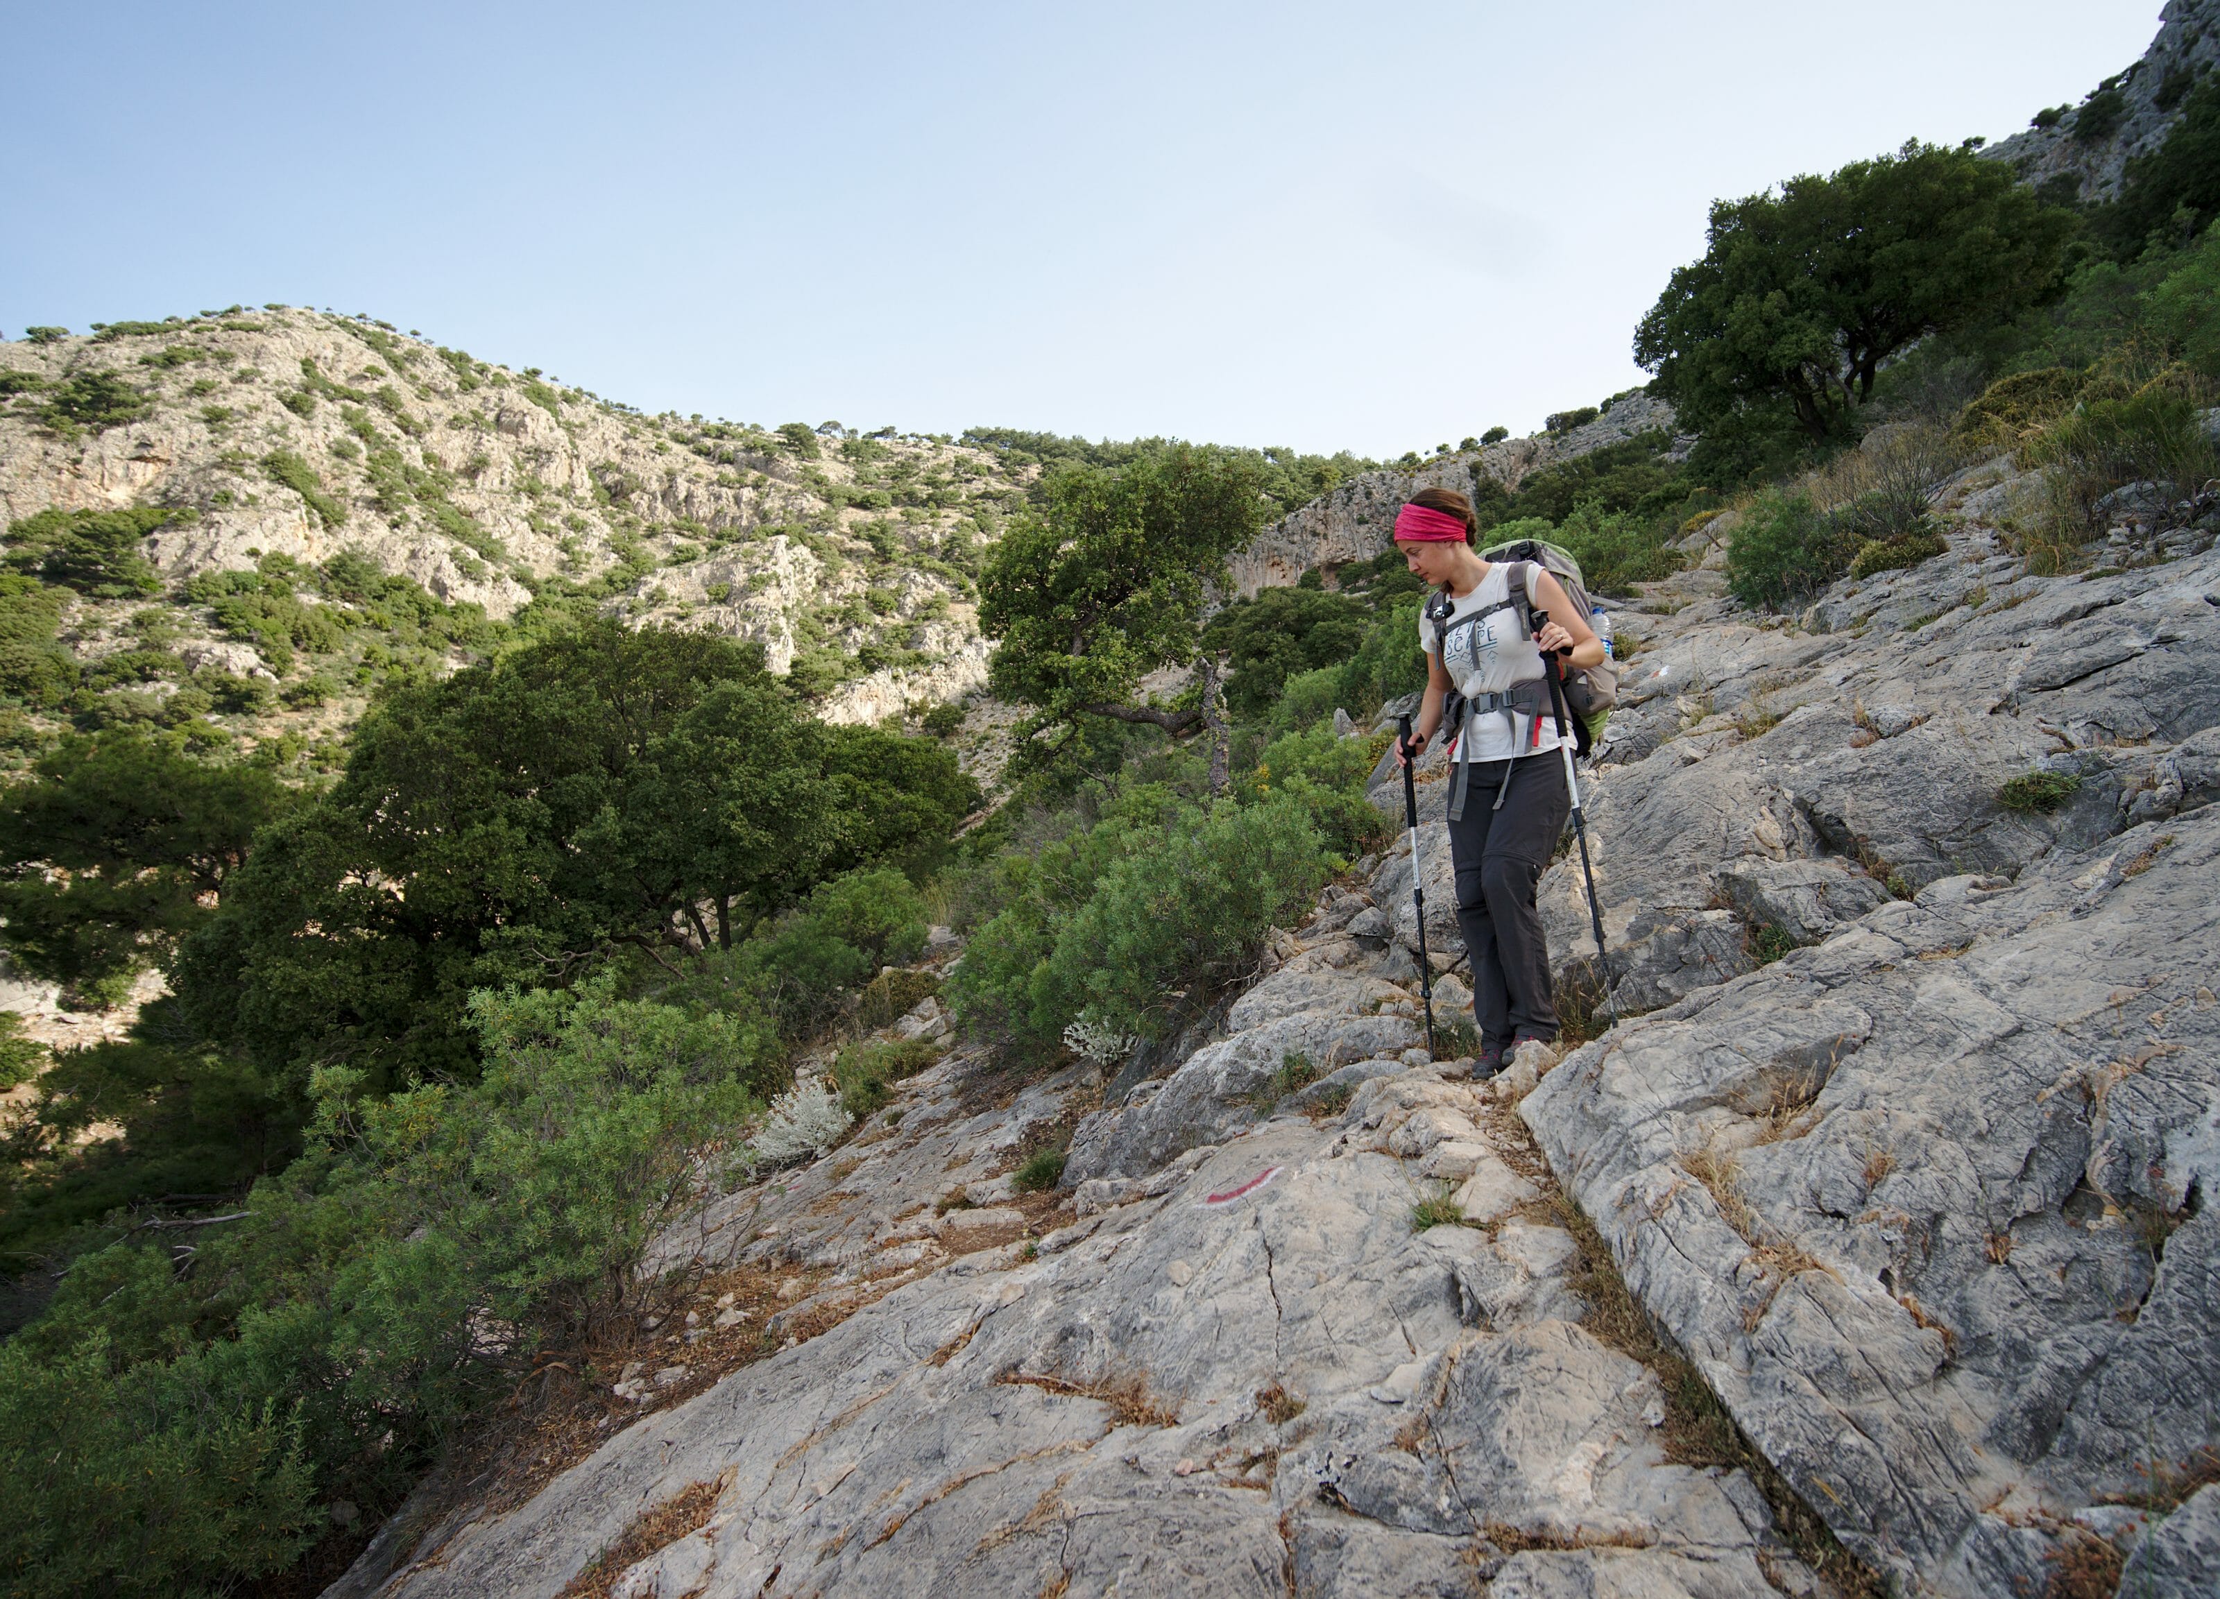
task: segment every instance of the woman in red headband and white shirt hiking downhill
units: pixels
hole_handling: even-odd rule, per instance
[[[1472,957],[1472,1013],[1481,1026],[1472,1075],[1492,1077],[1521,1042],[1556,1042],[1534,884],[1572,800],[1541,653],[1561,651],[1565,671],[1576,671],[1603,660],[1603,640],[1541,564],[1479,557],[1472,502],[1454,489],[1412,495],[1394,520],[1394,542],[1439,591],[1419,617],[1425,702],[1412,757],[1447,720],[1456,924]],[[1550,613],[1534,637],[1527,606]]]

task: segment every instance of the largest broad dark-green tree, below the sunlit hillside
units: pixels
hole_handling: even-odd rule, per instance
[[[970,793],[939,746],[819,726],[750,646],[591,620],[395,684],[331,795],[260,839],[175,984],[206,1037],[269,1073],[468,1077],[473,988],[733,946],[828,871],[946,835]],[[872,804],[850,817],[850,797]]]

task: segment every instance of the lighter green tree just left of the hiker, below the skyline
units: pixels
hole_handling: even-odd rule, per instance
[[[1046,509],[1003,533],[981,577],[992,684],[1035,706],[1030,731],[1079,717],[1185,733],[1203,706],[1139,704],[1141,677],[1197,662],[1203,597],[1263,520],[1257,469],[1170,444],[1117,471],[1063,466]]]

